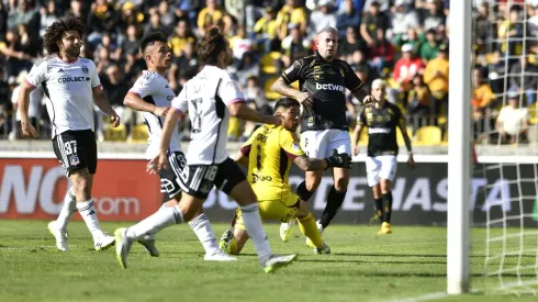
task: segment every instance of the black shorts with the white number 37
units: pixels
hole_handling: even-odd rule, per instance
[[[96,134],[91,130],[68,130],[53,138],[56,158],[66,170],[72,171],[88,168],[90,175],[97,171]]]

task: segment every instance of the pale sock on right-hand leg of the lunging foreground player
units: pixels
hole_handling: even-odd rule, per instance
[[[258,254],[258,258],[260,260],[265,260],[272,254],[272,251],[271,246],[269,246],[269,239],[267,238],[266,231],[261,225],[258,203],[242,206],[240,211],[243,213],[243,222],[245,223],[245,228],[248,236],[253,238],[254,248]]]

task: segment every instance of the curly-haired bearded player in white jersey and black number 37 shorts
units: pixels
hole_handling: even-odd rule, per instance
[[[19,97],[22,134],[36,137],[36,131],[29,122],[29,96],[37,86],[43,87],[53,123],[54,153],[72,182],[58,219],[48,224],[57,249],[63,251],[68,249],[67,223],[77,210],[93,236],[97,250],[114,244],[114,237],[99,227],[91,200],[97,170],[93,102],[110,115],[113,126],[120,124],[120,116],[103,96],[93,61],[79,57],[83,34],[85,26],[76,18],[54,22],[43,37],[43,46],[49,56],[32,67]]]

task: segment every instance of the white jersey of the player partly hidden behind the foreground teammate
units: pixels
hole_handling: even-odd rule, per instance
[[[155,104],[156,107],[170,107],[171,100],[176,97],[168,81],[159,74],[152,70],[144,70],[142,76],[136,80],[130,93],[137,94],[144,101]],[[152,112],[142,112],[146,122],[149,137],[147,138],[147,159],[154,158],[159,153],[160,133],[165,124],[165,118],[159,118]],[[179,139],[179,128],[176,124],[170,138],[169,152],[180,152],[181,144]]]

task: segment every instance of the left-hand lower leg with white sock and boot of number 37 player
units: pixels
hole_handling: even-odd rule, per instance
[[[67,244],[67,224],[75,212],[77,212],[77,200],[75,199],[72,188],[69,188],[64,198],[64,205],[61,206],[58,217],[48,223],[48,232],[56,238],[56,248],[58,250],[69,250]]]

